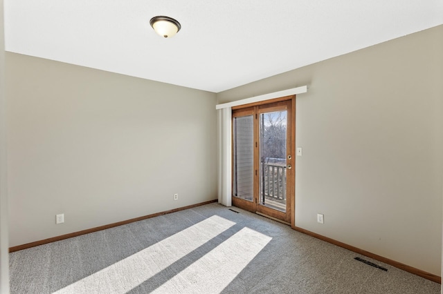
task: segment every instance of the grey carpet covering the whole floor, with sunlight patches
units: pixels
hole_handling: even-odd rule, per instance
[[[10,253],[11,293],[440,293],[233,209],[208,204]]]

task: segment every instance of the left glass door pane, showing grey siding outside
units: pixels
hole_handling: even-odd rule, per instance
[[[253,115],[233,118],[233,196],[253,202]]]

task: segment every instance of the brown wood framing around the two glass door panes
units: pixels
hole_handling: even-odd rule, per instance
[[[254,102],[251,104],[245,104],[242,106],[235,106],[232,108],[233,110],[233,114],[232,117],[242,117],[242,116],[246,116],[246,115],[252,115],[255,114],[254,119],[257,120],[257,115],[259,115],[260,113],[260,109],[266,109],[269,110],[269,106],[271,106],[271,104],[275,104],[275,106],[271,106],[271,109],[273,107],[277,107],[275,109],[281,108],[282,105],[284,104],[288,104],[287,105],[287,123],[289,124],[291,130],[290,133],[288,134],[290,136],[290,138],[288,138],[289,140],[287,140],[287,155],[290,154],[291,155],[291,159],[287,159],[287,164],[291,164],[292,168],[289,171],[290,175],[287,175],[287,191],[288,194],[290,195],[289,198],[287,198],[287,212],[284,213],[285,214],[285,218],[282,219],[282,212],[278,211],[278,210],[274,210],[272,208],[268,208],[266,206],[260,205],[259,204],[259,198],[260,198],[260,181],[259,181],[259,173],[256,172],[253,175],[253,179],[254,179],[254,183],[253,183],[253,201],[249,202],[248,200],[245,199],[239,199],[238,197],[234,197],[233,195],[231,195],[232,197],[232,203],[233,206],[237,206],[239,208],[243,208],[245,210],[249,210],[251,212],[254,213],[264,213],[266,215],[268,215],[271,218],[275,218],[275,219],[280,219],[282,222],[287,222],[288,224],[290,224],[292,227],[295,226],[295,202],[296,202],[296,191],[295,191],[295,174],[296,174],[296,164],[295,164],[295,150],[296,150],[296,96],[295,95],[291,95],[291,96],[286,96],[286,97],[279,97],[279,98],[275,98],[275,99],[269,99],[266,101],[260,101],[260,102]],[[235,111],[234,111],[235,110]],[[235,113],[234,113],[235,112]],[[234,132],[232,130],[232,134],[234,135]],[[258,171],[260,170],[260,166],[259,166],[259,156],[260,154],[257,152],[258,150],[258,138],[260,135],[260,129],[257,123],[254,123],[254,127],[253,127],[253,135],[254,135],[254,155],[253,155],[253,170],[254,171]],[[231,146],[231,148],[234,148],[233,144]],[[234,150],[232,150],[232,154],[234,155]],[[234,156],[231,159],[233,161],[233,166],[234,166]],[[234,175],[234,169],[232,170],[233,173],[233,185],[234,185],[234,181],[235,181],[235,175]],[[287,170],[288,173],[288,170]],[[259,209],[260,206],[260,209]],[[260,210],[260,211],[259,211]]]

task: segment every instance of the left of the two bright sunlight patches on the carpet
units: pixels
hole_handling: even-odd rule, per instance
[[[126,293],[234,225],[214,215],[55,293]]]

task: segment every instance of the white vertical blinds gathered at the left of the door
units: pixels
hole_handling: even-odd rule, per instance
[[[217,110],[219,179],[219,204],[231,206],[232,189],[232,147],[231,147],[231,109],[230,107]]]

